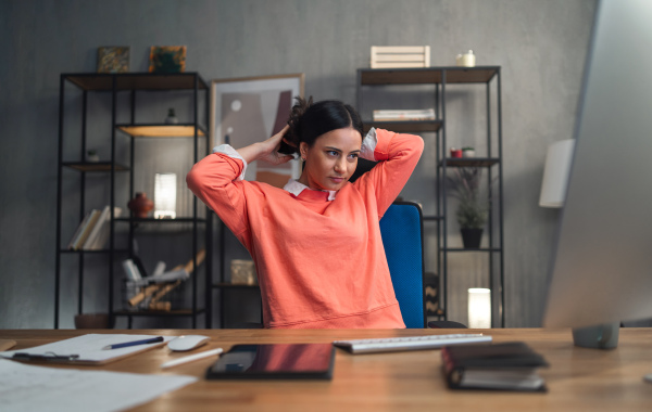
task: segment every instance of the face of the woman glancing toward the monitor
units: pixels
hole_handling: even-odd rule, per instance
[[[302,142],[305,166],[299,181],[314,190],[340,190],[355,171],[361,146],[362,136],[353,128],[324,133],[312,147]]]

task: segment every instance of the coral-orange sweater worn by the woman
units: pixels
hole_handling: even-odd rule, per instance
[[[334,201],[237,180],[242,160],[212,154],[190,190],[234,232],[255,262],[266,327],[405,327],[378,220],[412,175],[423,140],[376,130],[380,162]]]

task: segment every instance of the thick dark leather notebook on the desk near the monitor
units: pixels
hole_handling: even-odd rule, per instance
[[[452,389],[546,390],[537,368],[548,362],[523,342],[444,346],[441,359]]]

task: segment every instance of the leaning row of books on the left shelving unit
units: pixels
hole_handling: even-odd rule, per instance
[[[121,213],[122,208],[113,208],[114,217],[118,217]],[[104,206],[102,210],[90,210],[77,227],[67,248],[70,250],[101,250],[109,241],[110,226],[110,206]]]

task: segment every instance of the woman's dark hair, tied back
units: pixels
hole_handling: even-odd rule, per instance
[[[288,119],[290,129],[285,134],[285,139],[294,146],[291,147],[294,152],[299,152],[299,143],[305,142],[312,147],[319,136],[331,130],[351,127],[363,136],[362,120],[351,105],[339,100],[313,103],[312,96],[308,101],[299,96],[294,99],[297,103]]]

